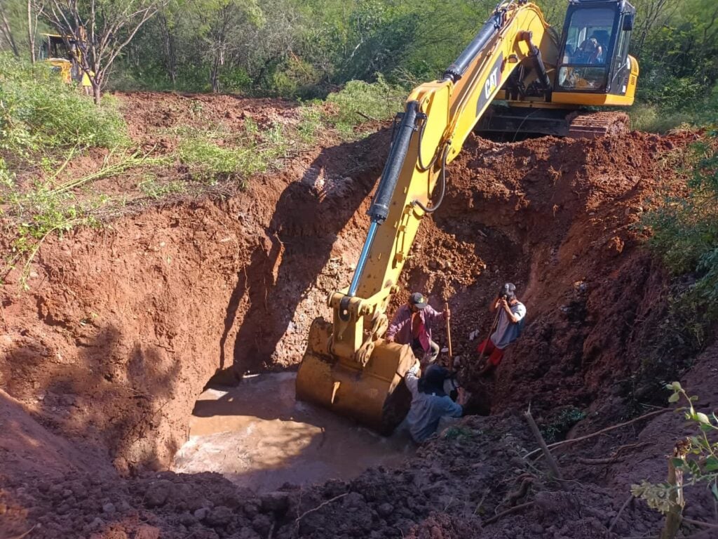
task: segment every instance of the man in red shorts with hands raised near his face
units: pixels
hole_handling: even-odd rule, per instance
[[[491,327],[493,333],[477,348],[481,354],[480,358],[488,356],[486,364],[478,372],[479,376],[498,367],[503,351],[521,335],[526,317],[526,306],[516,298],[516,285],[511,282],[501,287],[489,309],[492,313],[496,312],[496,318]]]

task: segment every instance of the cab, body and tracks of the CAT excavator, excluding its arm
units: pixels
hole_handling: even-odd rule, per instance
[[[544,65],[524,59],[476,131],[510,140],[625,132],[626,114],[585,114],[584,108],[633,104],[638,61],[628,55],[628,45],[634,21],[635,7],[627,0],[569,0],[561,36],[548,32],[538,47]],[[540,84],[542,78],[550,84]]]

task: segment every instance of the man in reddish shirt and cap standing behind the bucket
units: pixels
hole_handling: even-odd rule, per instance
[[[414,355],[424,368],[434,363],[439,356],[439,345],[432,340],[431,323],[448,320],[450,316],[448,309],[439,313],[429,305],[429,300],[421,292],[414,292],[409,296],[409,301],[396,311],[386,331],[386,340],[411,345]]]

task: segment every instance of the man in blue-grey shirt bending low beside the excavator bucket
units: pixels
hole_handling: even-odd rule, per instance
[[[442,418],[460,418],[464,415],[467,400],[467,392],[462,387],[457,388],[457,402],[444,391],[444,381],[449,377],[448,369],[436,364],[429,365],[419,378],[416,376],[419,365],[417,359],[404,376],[406,387],[411,392],[411,408],[406,423],[416,443],[432,436]]]

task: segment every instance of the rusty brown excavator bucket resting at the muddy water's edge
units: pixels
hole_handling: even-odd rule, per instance
[[[380,339],[365,367],[329,350],[332,324],[316,318],[297,373],[297,399],[345,415],[388,436],[409,411],[404,374],[414,364],[409,346]]]

